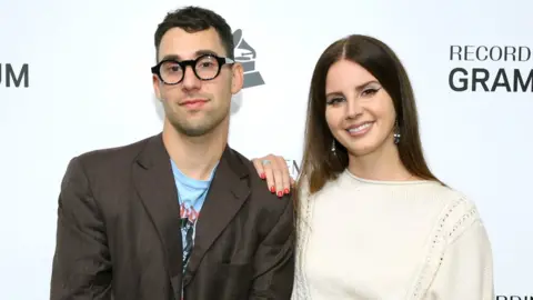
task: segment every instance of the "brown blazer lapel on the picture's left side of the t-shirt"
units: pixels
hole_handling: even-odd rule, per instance
[[[164,247],[174,298],[181,299],[183,268],[180,206],[170,157],[164,149],[161,134],[148,141],[133,164],[132,177],[139,197]]]

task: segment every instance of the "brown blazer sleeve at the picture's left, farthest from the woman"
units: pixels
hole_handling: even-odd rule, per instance
[[[104,222],[79,158],[69,162],[58,203],[51,300],[111,299]]]

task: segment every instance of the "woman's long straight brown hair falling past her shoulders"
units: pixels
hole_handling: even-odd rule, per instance
[[[391,96],[401,134],[398,150],[405,168],[419,178],[441,182],[425,162],[413,89],[400,59],[375,38],[353,34],[330,44],[314,68],[296,193],[302,186],[305,186],[310,193],[320,191],[329,180],[336,179],[348,167],[348,151],[342,144],[335,142],[335,154],[331,151],[334,138],[325,120],[325,78],[330,67],[342,59],[366,69]]]

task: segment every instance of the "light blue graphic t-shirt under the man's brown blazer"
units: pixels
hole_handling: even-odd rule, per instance
[[[197,220],[200,217],[200,211],[205,201],[205,196],[211,186],[217,166],[211,171],[208,180],[197,180],[183,174],[172,160],[171,164],[178,189],[178,201],[180,203],[184,270],[194,244]]]

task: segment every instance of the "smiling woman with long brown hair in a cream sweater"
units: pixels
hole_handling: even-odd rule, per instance
[[[290,188],[282,158],[253,161],[273,192]],[[320,57],[294,196],[292,299],[493,299],[480,214],[428,168],[408,74],[383,42],[350,36]]]

